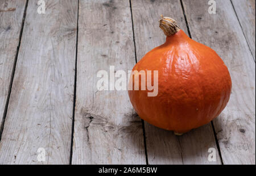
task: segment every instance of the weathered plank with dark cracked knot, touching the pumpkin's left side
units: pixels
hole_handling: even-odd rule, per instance
[[[142,121],[127,91],[98,91],[99,70],[135,64],[129,0],[79,5],[72,164],[146,164]]]

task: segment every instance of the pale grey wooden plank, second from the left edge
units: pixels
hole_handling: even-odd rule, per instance
[[[0,164],[69,164],[78,5],[48,0],[46,14],[37,8],[28,2]]]

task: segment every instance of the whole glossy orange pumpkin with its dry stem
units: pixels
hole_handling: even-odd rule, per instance
[[[232,82],[228,68],[213,49],[189,38],[174,19],[162,16],[159,21],[166,42],[133,68],[138,72],[158,70],[158,95],[148,97],[148,89],[128,92],[143,120],[181,135],[209,123],[224,110]],[[134,86],[134,79],[130,80]]]

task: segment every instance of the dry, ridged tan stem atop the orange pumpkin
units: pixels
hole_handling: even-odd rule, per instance
[[[180,27],[177,25],[175,19],[164,17],[163,15],[161,15],[159,23],[159,27],[163,30],[166,36],[174,35],[176,32],[179,32],[180,30]]]

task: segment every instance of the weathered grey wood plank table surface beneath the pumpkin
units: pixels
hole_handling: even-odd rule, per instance
[[[215,0],[216,14],[207,0],[45,2],[40,14],[38,0],[0,0],[0,164],[255,164],[254,0]],[[99,70],[131,70],[164,43],[161,14],[233,82],[221,115],[183,136],[96,87]]]

